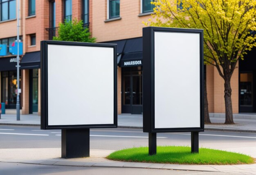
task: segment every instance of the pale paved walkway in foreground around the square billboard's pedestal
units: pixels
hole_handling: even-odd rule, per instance
[[[23,148],[0,149],[0,162],[15,162],[27,164],[87,166],[87,167],[118,167],[118,168],[157,168],[190,171],[223,172],[232,175],[255,175],[256,164],[249,165],[180,165],[154,164],[139,162],[120,162],[104,157],[113,150],[90,150],[90,157],[63,159],[61,148]]]

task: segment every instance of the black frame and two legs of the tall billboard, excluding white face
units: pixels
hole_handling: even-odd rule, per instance
[[[200,127],[155,128],[155,32],[200,34]],[[204,131],[204,47],[203,29],[169,27],[143,28],[143,132],[149,133],[149,154],[156,154],[157,132],[191,132],[192,152],[198,152],[198,132]],[[193,141],[193,143],[192,143]]]

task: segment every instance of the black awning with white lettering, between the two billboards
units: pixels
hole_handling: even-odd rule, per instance
[[[142,65],[142,52],[126,53],[119,63],[120,67],[132,67]]]

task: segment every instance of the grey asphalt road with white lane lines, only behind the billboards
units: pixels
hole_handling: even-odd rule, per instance
[[[190,146],[190,133],[158,133],[157,145]],[[148,146],[148,134],[141,129],[90,129],[90,149],[119,150]],[[200,132],[199,146],[216,149],[256,148],[256,133]],[[61,130],[40,130],[36,126],[0,125],[0,148],[61,148]],[[256,157],[255,153],[252,153]]]

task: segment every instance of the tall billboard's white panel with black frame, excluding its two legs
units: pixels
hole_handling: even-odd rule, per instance
[[[203,30],[143,28],[143,131],[204,131]]]

